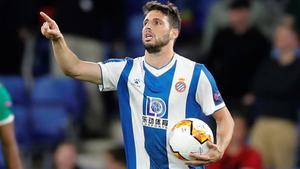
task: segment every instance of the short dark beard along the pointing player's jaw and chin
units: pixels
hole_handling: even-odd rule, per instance
[[[166,46],[169,42],[169,34],[165,34],[161,39],[156,40],[153,44],[146,44],[144,42],[144,47],[148,53],[158,53],[161,51],[161,48]]]

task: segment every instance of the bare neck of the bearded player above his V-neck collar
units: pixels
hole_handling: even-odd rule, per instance
[[[167,65],[174,56],[173,46],[170,43],[161,48],[157,53],[145,51],[145,61],[154,68],[160,69]]]

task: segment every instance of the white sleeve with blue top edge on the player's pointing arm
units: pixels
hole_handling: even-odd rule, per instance
[[[100,91],[117,90],[118,81],[126,63],[127,59],[109,59],[98,63],[102,72]]]

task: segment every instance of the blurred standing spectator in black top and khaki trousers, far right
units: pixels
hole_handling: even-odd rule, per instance
[[[259,114],[251,142],[265,168],[292,169],[297,151],[297,111],[300,103],[300,50],[290,22],[279,25],[274,50],[255,78],[253,101]]]

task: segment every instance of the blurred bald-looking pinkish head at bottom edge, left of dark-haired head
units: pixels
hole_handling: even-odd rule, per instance
[[[77,149],[72,143],[60,144],[54,153],[55,169],[80,169],[77,164]]]

